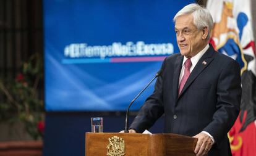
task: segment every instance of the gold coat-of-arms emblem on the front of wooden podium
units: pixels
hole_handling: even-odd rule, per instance
[[[126,154],[124,139],[119,138],[118,136],[113,136],[112,138],[108,138],[108,141],[108,156],[124,156]]]

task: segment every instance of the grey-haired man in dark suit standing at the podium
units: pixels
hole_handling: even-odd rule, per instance
[[[207,9],[189,4],[174,22],[180,54],[164,60],[129,133],[142,133],[164,114],[164,133],[198,138],[195,154],[231,155],[227,133],[239,114],[239,65],[208,44],[213,20]]]

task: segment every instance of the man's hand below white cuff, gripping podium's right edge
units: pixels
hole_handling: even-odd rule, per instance
[[[211,146],[213,146],[213,141],[211,141],[210,136],[208,136],[205,133],[199,133],[193,138],[197,138],[197,146],[195,146],[195,154],[197,156],[206,155],[208,151],[211,149]]]

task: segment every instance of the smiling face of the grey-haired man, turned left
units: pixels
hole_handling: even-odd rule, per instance
[[[193,22],[193,15],[180,15],[175,23],[176,39],[181,55],[193,57],[207,44],[207,28],[198,30]],[[207,31],[207,32],[206,32]]]

